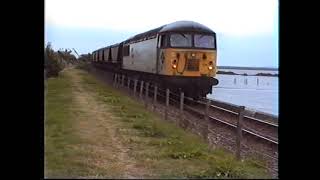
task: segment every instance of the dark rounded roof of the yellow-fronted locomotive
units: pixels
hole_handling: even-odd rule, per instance
[[[165,32],[199,32],[199,33],[215,34],[215,32],[212,31],[210,28],[200,23],[193,22],[193,21],[176,21],[141,34],[137,34],[127,39],[126,41],[124,41],[124,43],[151,37],[158,33],[165,33]]]

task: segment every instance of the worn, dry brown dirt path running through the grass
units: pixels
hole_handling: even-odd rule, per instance
[[[77,70],[70,70],[73,85],[75,104],[81,116],[77,119],[76,127],[78,135],[86,141],[86,145],[75,148],[83,148],[84,151],[94,156],[84,157],[88,167],[111,173],[118,178],[143,178],[145,171],[136,166],[135,161],[129,157],[125,143],[121,142],[117,134],[118,119],[112,115],[105,104],[98,102],[90,92],[83,87]],[[82,159],[83,161],[83,159]],[[112,177],[111,176],[111,177]]]

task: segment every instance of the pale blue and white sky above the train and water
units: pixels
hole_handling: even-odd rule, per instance
[[[45,0],[45,43],[91,53],[180,20],[217,33],[219,66],[278,67],[277,0]]]

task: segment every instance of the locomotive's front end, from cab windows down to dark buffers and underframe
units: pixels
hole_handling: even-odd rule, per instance
[[[169,87],[184,89],[190,97],[205,97],[218,84],[215,33],[166,32],[161,35],[159,74]]]

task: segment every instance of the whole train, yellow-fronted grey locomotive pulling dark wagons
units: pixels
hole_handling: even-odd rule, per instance
[[[157,84],[193,99],[219,83],[216,33],[194,21],[176,21],[92,52],[95,67]]]

